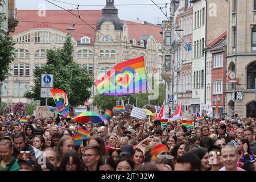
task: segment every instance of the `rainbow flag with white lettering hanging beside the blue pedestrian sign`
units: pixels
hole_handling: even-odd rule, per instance
[[[49,89],[57,106],[57,112],[66,117],[69,111],[67,94],[61,89]]]

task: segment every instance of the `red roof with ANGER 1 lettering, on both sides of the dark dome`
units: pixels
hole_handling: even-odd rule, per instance
[[[78,15],[77,11],[72,11],[72,13]],[[90,24],[95,30],[65,10],[46,10],[46,16],[39,16],[38,10],[17,10],[16,19],[19,20],[19,24],[11,36],[36,28],[53,28],[65,33],[71,32],[76,41],[80,41],[82,37],[88,36],[91,38],[90,44],[93,45],[96,35],[96,24],[98,19],[101,18],[102,11],[79,10],[79,14],[81,19]],[[130,39],[139,40],[142,35],[154,35],[156,40],[162,43],[162,35],[160,34],[162,27],[126,20],[122,20],[122,22],[127,24]],[[75,30],[67,30],[70,24],[75,24]]]

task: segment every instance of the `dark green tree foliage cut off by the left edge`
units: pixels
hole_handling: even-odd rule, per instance
[[[3,0],[0,0],[0,8],[3,6]],[[10,76],[10,64],[14,61],[14,41],[7,35],[1,26],[6,20],[6,15],[0,13],[0,82]]]

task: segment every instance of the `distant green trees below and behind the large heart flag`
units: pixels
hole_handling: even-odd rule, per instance
[[[165,86],[164,84],[160,84],[158,88],[159,88],[158,99],[150,100],[150,104],[162,106],[164,101],[164,96],[165,96]],[[129,104],[132,104],[134,106],[136,106],[136,97],[138,97],[138,107],[143,107],[144,105],[148,104],[148,95],[150,95],[150,93],[133,94],[131,96],[126,96],[126,98],[124,96],[122,97],[124,99],[125,104],[127,104],[128,98],[130,97]],[[119,98],[118,96],[102,96],[101,97],[100,94],[97,94],[94,97],[93,105],[97,106],[98,109],[112,110],[112,108],[116,105],[116,101],[118,101],[118,98]]]

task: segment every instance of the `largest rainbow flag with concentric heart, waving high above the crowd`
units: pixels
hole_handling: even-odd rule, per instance
[[[144,57],[115,65],[101,80],[96,80],[96,88],[101,96],[122,96],[150,90],[147,84]]]

